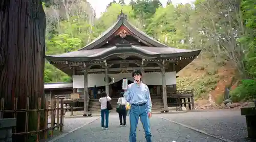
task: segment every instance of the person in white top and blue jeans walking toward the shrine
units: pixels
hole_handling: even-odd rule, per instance
[[[101,103],[100,109],[101,109],[101,127],[102,129],[107,130],[109,128],[109,110],[106,108],[106,102],[111,101],[112,99],[106,95],[106,92],[101,92],[101,98],[99,99],[99,102]],[[104,125],[104,121],[106,120],[106,123]]]

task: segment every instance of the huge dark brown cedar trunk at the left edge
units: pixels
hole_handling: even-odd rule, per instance
[[[30,109],[37,107],[38,98],[44,100],[45,28],[40,0],[0,1],[0,98],[5,98],[5,109],[14,108],[15,97],[18,109],[26,108],[27,97]],[[35,116],[29,116],[30,129],[37,126]],[[24,129],[25,113],[18,113],[17,131]]]

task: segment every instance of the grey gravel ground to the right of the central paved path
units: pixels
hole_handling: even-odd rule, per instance
[[[179,114],[158,114],[158,116],[232,141],[249,141],[246,139],[245,116],[242,116],[240,111],[216,110]]]

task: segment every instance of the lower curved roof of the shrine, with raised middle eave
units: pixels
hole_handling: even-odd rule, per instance
[[[192,57],[198,56],[201,50],[185,50],[169,47],[148,47],[148,46],[113,46],[111,48],[80,50],[59,55],[47,56],[48,61],[90,61],[104,60],[115,54],[137,54],[144,59],[150,58],[177,58],[177,57]]]

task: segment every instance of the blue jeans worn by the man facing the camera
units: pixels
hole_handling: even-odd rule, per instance
[[[130,109],[130,142],[136,142],[136,129],[140,117],[140,121],[143,125],[145,131],[145,138],[147,142],[151,142],[151,130],[150,130],[150,119],[147,115],[147,106],[146,104],[143,106],[131,105]]]

